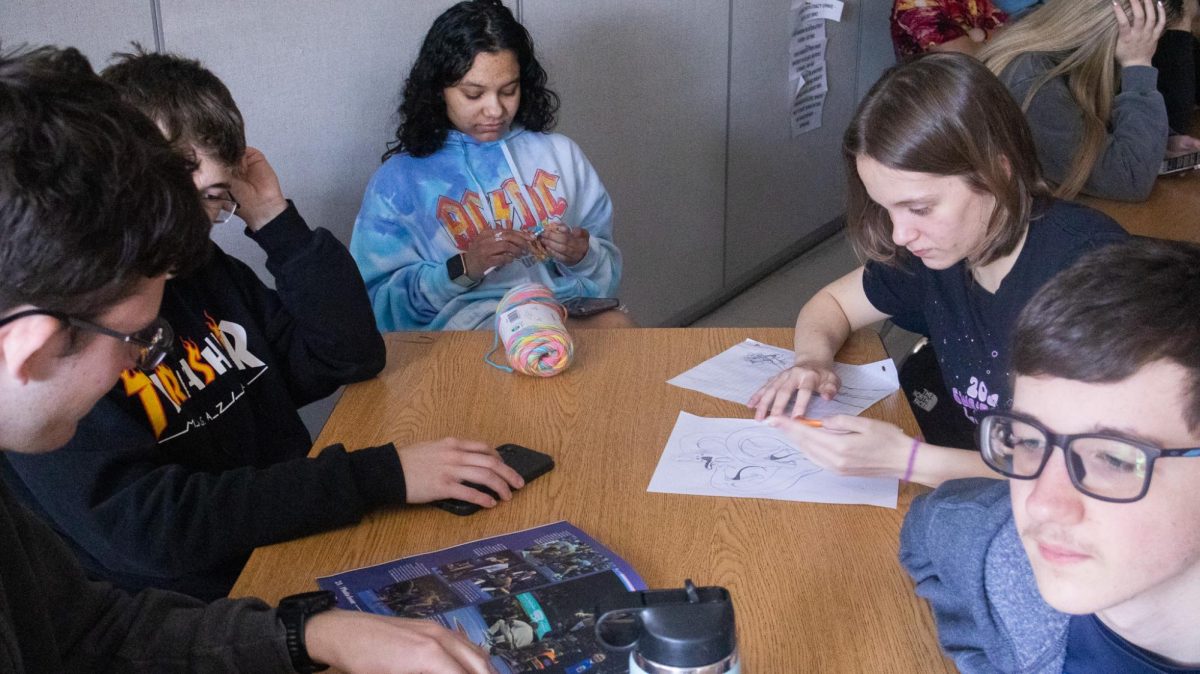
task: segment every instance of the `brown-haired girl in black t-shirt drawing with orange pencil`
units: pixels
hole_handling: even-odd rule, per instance
[[[800,415],[833,397],[833,356],[850,333],[892,318],[930,338],[946,390],[972,428],[1007,409],[1008,333],[1033,293],[1081,253],[1126,237],[1091,209],[1057,201],[1038,170],[1025,116],[988,68],[962,54],[893,67],[859,104],[842,142],[851,242],[868,259],[818,291],[796,319],[796,365],[750,401],[824,468],[925,485],[988,475],[974,452],[930,445],[871,419]],[[840,432],[848,433],[840,433]],[[956,429],[958,446],[973,447]]]

